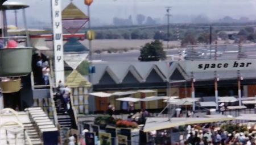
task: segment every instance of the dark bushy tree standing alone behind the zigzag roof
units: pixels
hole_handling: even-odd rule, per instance
[[[141,48],[141,55],[139,61],[160,61],[166,60],[166,52],[163,49],[163,43],[155,40],[151,43],[146,43]]]

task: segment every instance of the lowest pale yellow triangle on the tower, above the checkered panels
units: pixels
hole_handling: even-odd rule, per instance
[[[70,87],[90,87],[92,84],[86,78],[84,78],[79,72],[74,70],[71,74],[68,75],[67,79],[65,80],[65,84]]]

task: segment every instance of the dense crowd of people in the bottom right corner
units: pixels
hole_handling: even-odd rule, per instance
[[[198,127],[201,130],[198,130]],[[176,142],[177,145],[253,145],[256,140],[256,131],[249,133],[235,130],[230,133],[220,127],[215,127],[212,123],[194,127],[189,125],[187,131],[186,138],[181,135],[180,142]]]

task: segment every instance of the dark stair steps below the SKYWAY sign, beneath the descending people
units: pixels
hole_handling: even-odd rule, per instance
[[[64,107],[61,107],[59,109],[59,106],[57,106],[57,101],[55,100],[55,106],[56,106],[56,111],[57,111],[57,119],[61,127],[68,127],[73,129],[72,124],[75,122],[75,118],[71,117],[70,113],[65,113]],[[61,106],[63,106],[61,104]]]

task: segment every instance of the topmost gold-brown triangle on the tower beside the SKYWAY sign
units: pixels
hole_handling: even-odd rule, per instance
[[[62,11],[62,19],[86,19],[89,18],[72,2]]]

